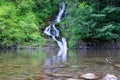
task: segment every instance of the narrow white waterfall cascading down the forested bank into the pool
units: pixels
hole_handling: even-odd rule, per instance
[[[65,10],[65,3],[62,2],[59,5],[59,13],[55,19],[56,23],[60,22],[64,10]],[[66,38],[60,36],[59,30],[55,27],[55,23],[53,22],[50,23],[50,25],[45,28],[44,33],[48,36],[51,36],[52,39],[57,42],[60,49],[67,49]]]

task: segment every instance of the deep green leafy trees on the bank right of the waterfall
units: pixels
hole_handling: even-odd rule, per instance
[[[101,44],[119,41],[120,37],[120,7],[115,4],[102,4],[93,0],[76,1],[68,5],[68,15],[63,20],[65,37],[69,47],[79,46],[81,42]]]

